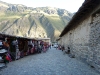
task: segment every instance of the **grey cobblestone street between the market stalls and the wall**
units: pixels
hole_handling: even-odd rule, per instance
[[[8,63],[0,75],[100,75],[93,68],[70,58],[61,50],[26,56]]]

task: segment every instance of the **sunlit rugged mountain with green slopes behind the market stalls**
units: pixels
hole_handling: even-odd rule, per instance
[[[54,41],[73,14],[53,7],[27,7],[0,1],[0,32]]]

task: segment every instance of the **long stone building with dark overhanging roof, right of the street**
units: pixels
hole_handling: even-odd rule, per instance
[[[100,72],[100,0],[85,0],[60,34],[70,54]]]

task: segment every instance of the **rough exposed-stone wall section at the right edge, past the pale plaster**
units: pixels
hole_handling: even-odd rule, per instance
[[[93,21],[92,24],[90,24],[91,31],[89,40],[89,47],[92,54],[87,61],[100,71],[100,13],[95,14],[92,18]]]

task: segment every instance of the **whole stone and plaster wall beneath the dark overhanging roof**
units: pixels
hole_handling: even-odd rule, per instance
[[[100,72],[100,13],[94,12],[62,37],[62,45]]]

